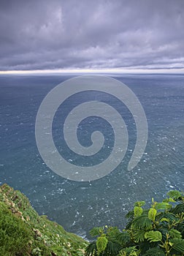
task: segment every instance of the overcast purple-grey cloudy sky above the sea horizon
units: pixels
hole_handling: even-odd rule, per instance
[[[0,1],[1,71],[183,67],[183,0]]]

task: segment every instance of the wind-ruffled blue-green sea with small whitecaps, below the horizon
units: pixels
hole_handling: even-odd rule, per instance
[[[139,98],[148,123],[145,154],[134,170],[127,165],[136,142],[134,119],[124,105],[124,121],[129,130],[129,147],[123,162],[104,178],[91,182],[69,181],[50,170],[39,155],[34,135],[37,111],[42,99],[69,75],[1,75],[0,76],[0,183],[20,189],[31,200],[39,214],[63,225],[66,230],[88,236],[97,225],[125,225],[124,216],[136,200],[161,200],[169,189],[184,190],[184,75],[115,75]],[[74,102],[115,99],[100,94],[80,94]],[[105,99],[104,99],[105,98]],[[68,105],[67,105],[68,104]],[[59,116],[58,110],[58,117]],[[89,121],[89,123],[88,123]],[[62,148],[61,118],[55,116],[53,138]],[[88,146],[88,132],[106,127],[103,120],[85,120],[79,129],[80,142]],[[94,128],[93,128],[94,126]],[[87,136],[86,136],[87,134]],[[104,130],[107,148],[113,146],[112,130]],[[108,154],[101,152],[99,163]],[[90,165],[84,157],[74,159],[77,165]]]

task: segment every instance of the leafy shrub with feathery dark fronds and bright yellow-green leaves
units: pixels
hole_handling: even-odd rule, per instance
[[[87,246],[86,256],[184,255],[184,194],[170,191],[161,203],[152,200],[134,204],[126,215],[126,229],[94,227],[96,241]],[[143,207],[142,207],[143,206]]]

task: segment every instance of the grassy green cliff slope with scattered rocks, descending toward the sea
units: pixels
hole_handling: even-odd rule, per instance
[[[39,216],[19,191],[7,184],[0,187],[0,255],[83,256],[87,244]]]

